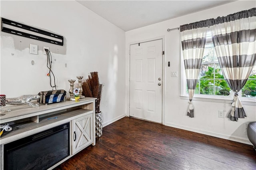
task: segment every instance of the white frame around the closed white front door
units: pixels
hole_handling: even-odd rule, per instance
[[[165,51],[165,36],[160,36],[156,38],[150,38],[147,40],[140,40],[136,42],[130,42],[127,44],[126,49],[128,52],[128,57],[126,57],[126,115],[129,117],[130,116],[130,45],[137,44],[137,43],[144,43],[144,42],[150,42],[154,40],[162,40],[162,48],[164,51],[164,55],[162,55],[162,125],[165,125],[165,98],[166,98],[166,51]]]

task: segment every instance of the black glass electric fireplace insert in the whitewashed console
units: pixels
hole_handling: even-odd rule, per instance
[[[70,155],[69,123],[4,145],[5,170],[46,170]]]

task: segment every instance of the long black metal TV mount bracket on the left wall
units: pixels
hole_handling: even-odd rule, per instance
[[[4,27],[4,24],[10,25],[10,26],[12,26],[12,28],[17,27],[17,28],[21,28],[21,29],[24,29],[24,30],[28,30],[29,33],[21,32],[21,31],[18,31],[18,30],[14,30],[14,29],[11,29],[11,28]],[[10,34],[15,34],[15,35],[18,35],[18,36],[23,36],[23,37],[26,37],[26,38],[32,38],[34,40],[39,40],[39,41],[53,43],[53,44],[56,44],[56,45],[62,45],[63,46],[63,36],[53,34],[53,33],[50,33],[50,32],[44,31],[44,30],[40,30],[38,28],[34,28],[34,27],[31,27],[31,26],[27,26],[25,24],[20,24],[20,23],[15,22],[15,21],[7,20],[5,18],[2,18],[2,32],[8,32]],[[36,32],[38,34],[43,34],[47,38],[30,34],[30,32],[31,33]],[[57,39],[59,41],[57,41]]]

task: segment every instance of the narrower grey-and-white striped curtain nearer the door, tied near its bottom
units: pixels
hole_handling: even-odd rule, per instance
[[[194,117],[192,99],[200,72],[204,46],[206,43],[206,21],[180,26],[180,39],[189,93],[187,116]]]

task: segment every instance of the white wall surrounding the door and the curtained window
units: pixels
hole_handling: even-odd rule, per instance
[[[129,97],[129,45],[134,42],[144,42],[145,40],[164,37],[166,88],[163,123],[171,127],[250,144],[246,134],[244,134],[244,124],[245,122],[256,121],[255,103],[254,106],[244,105],[247,117],[239,119],[238,122],[230,121],[226,117],[224,119],[218,118],[218,110],[226,110],[228,112],[231,108],[230,101],[226,101],[228,103],[193,101],[195,117],[189,118],[186,116],[188,100],[181,99],[180,97],[180,32],[179,30],[167,32],[167,29],[177,28],[180,25],[200,20],[217,18],[218,16],[226,16],[254,7],[256,7],[255,1],[237,1],[126,32],[126,113],[129,114],[127,107]],[[170,67],[167,66],[168,61],[170,61]],[[178,71],[178,77],[171,77],[171,71]]]

